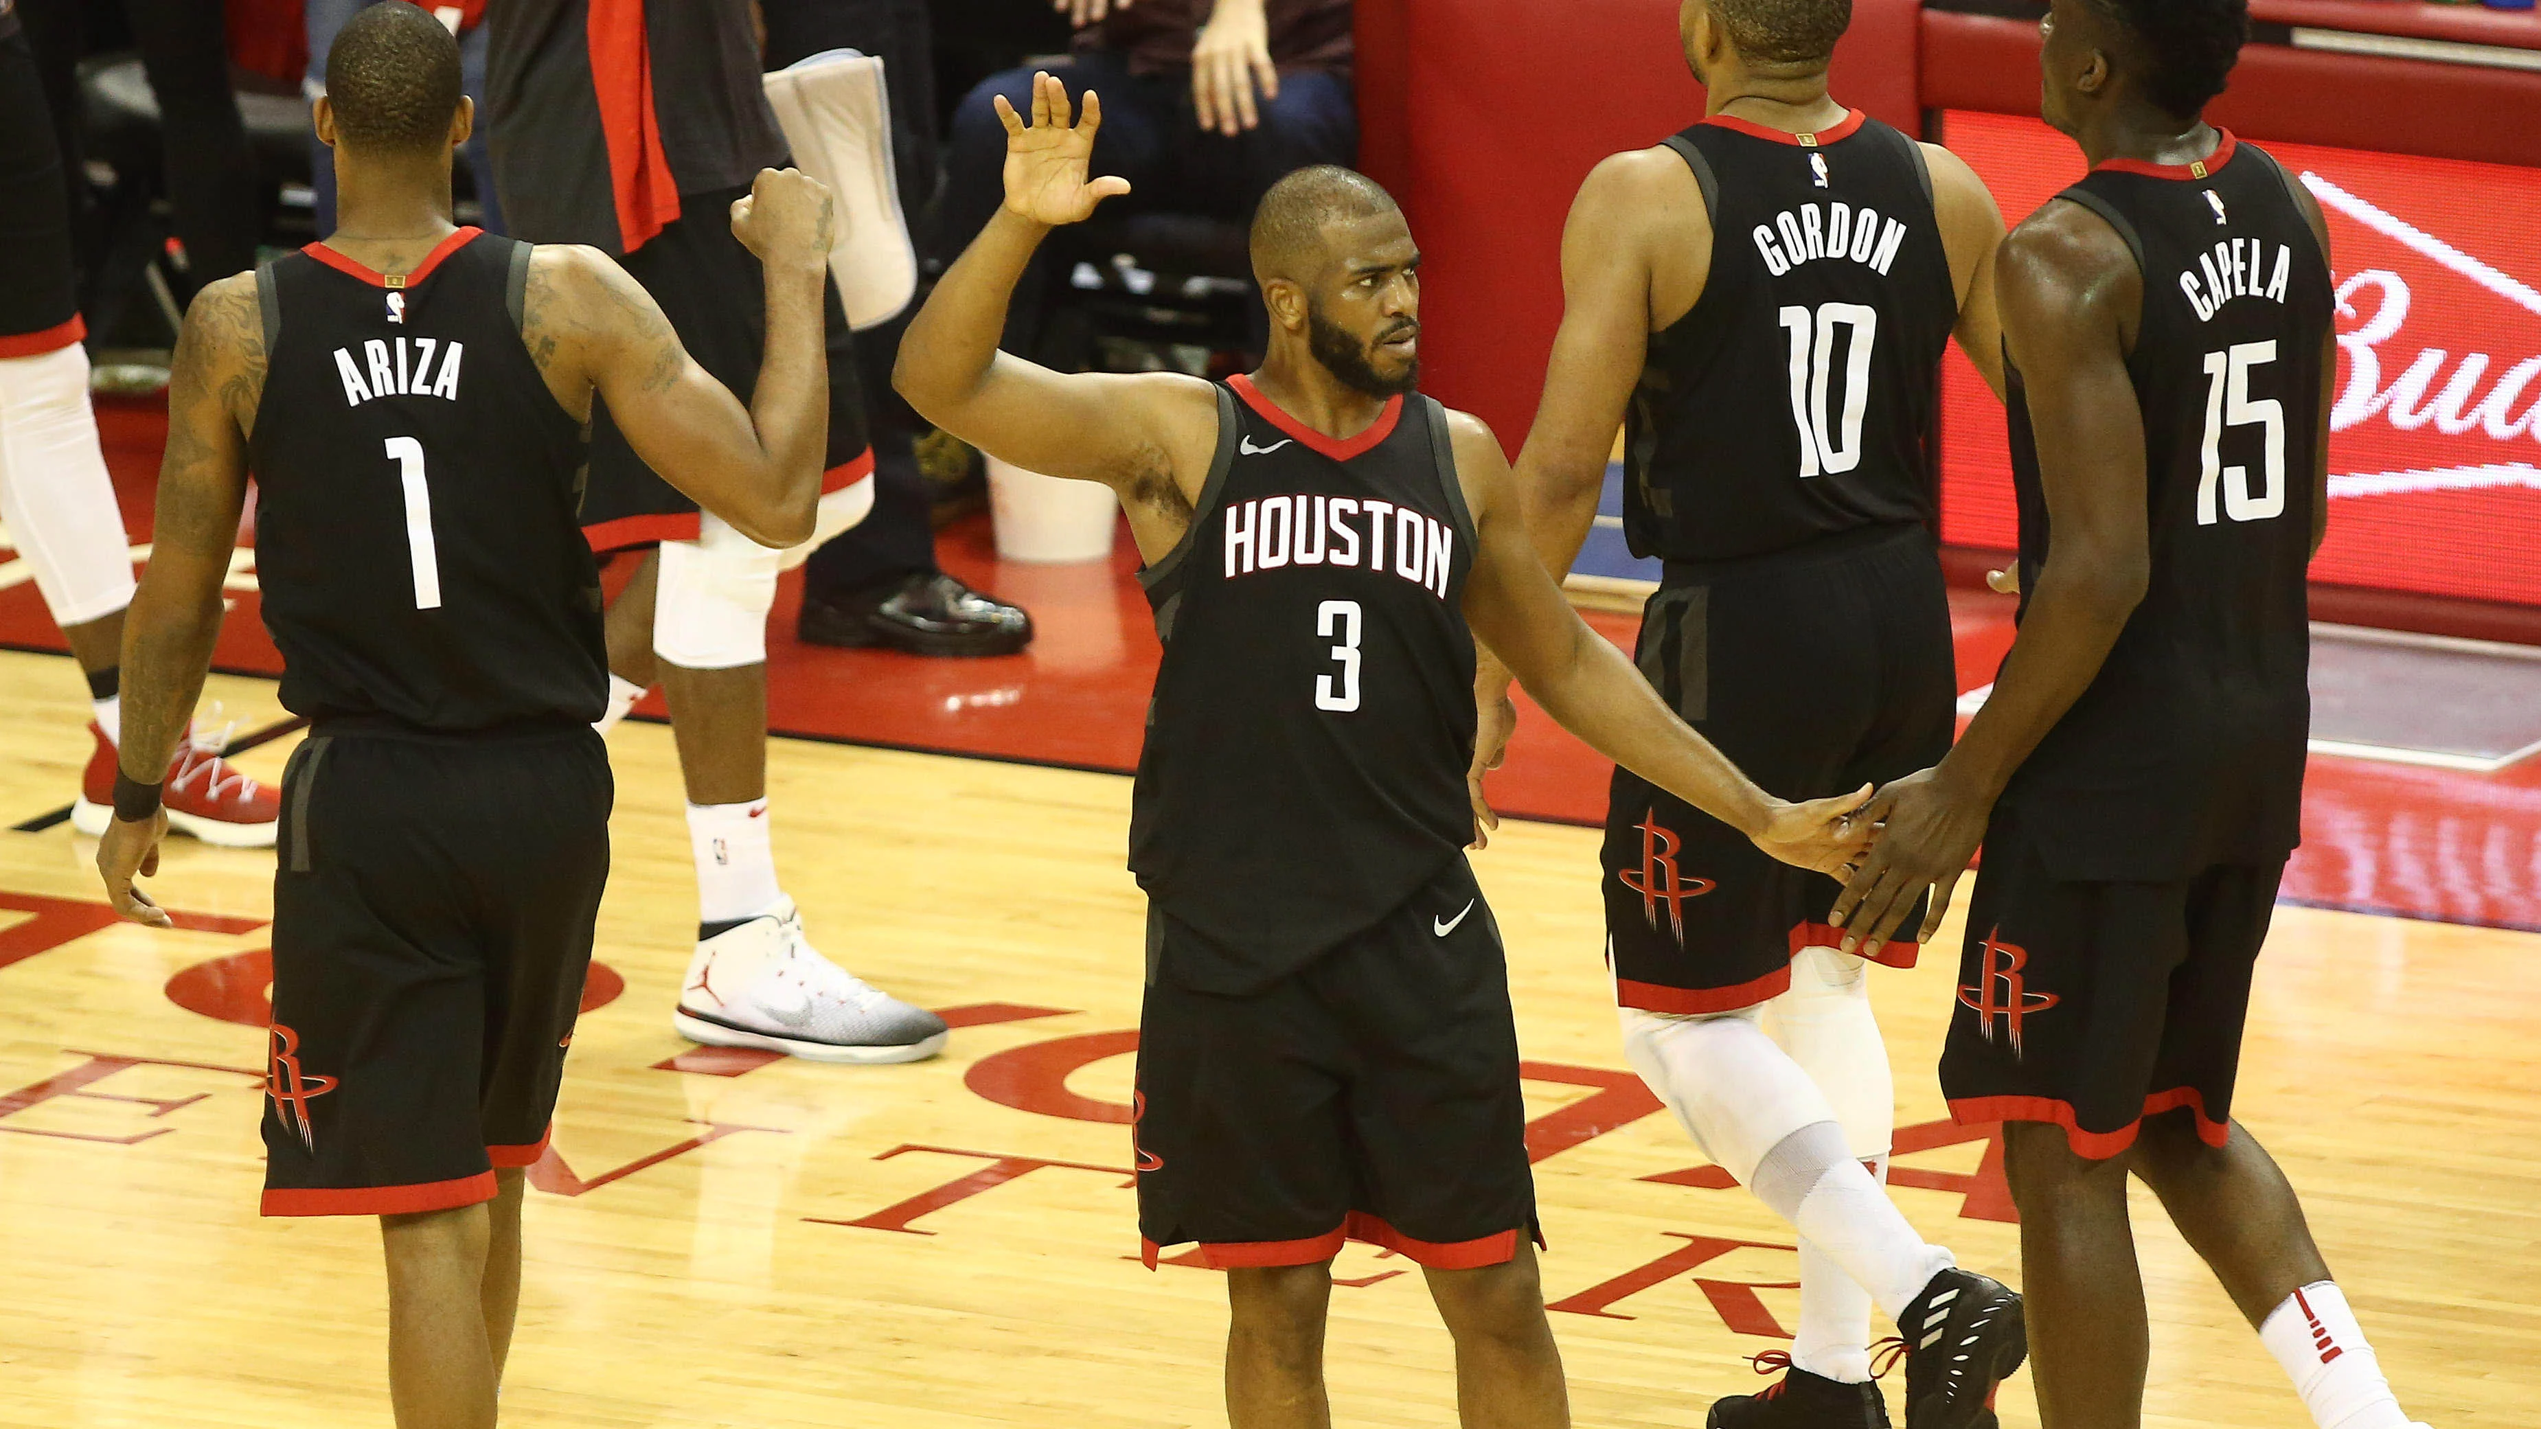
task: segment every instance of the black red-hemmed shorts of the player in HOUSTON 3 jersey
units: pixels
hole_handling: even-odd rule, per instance
[[[1149,910],[1149,941],[1192,933]],[[1171,959],[1149,959],[1171,966]],[[1151,979],[1138,1027],[1146,1264],[1309,1266],[1342,1241],[1497,1266],[1535,1233],[1509,966],[1459,857],[1375,928],[1245,997]]]

